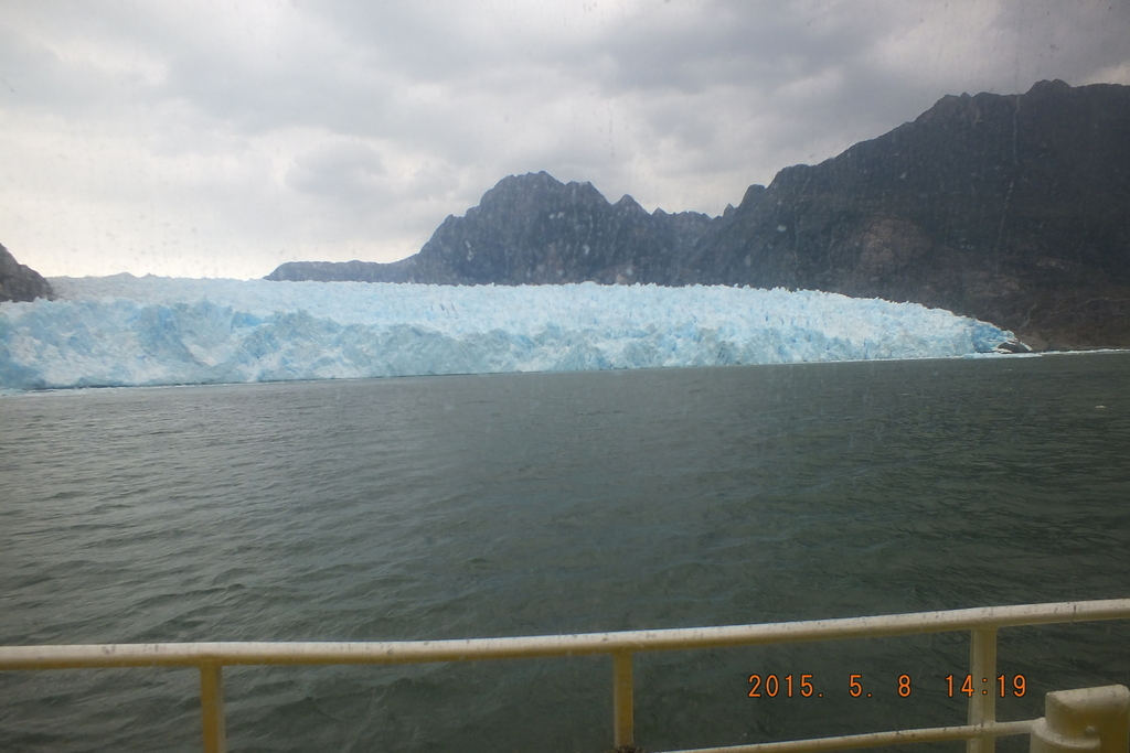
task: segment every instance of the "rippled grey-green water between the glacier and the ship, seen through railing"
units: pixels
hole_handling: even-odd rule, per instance
[[[1127,596],[1127,353],[0,400],[2,645]],[[944,677],[967,657],[960,633],[637,656],[637,744],[960,724]],[[1050,690],[1130,682],[1130,625],[1005,630],[998,671],[1027,682],[999,718],[1040,716]],[[824,698],[749,699],[753,673],[811,674]],[[849,695],[851,674],[871,698]],[[611,747],[603,657],[242,667],[225,682],[233,751]],[[0,673],[0,750],[198,751],[198,688],[192,669]]]

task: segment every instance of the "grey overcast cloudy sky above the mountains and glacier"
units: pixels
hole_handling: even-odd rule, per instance
[[[542,169],[718,214],[1052,78],[1130,84],[1130,1],[0,0],[0,243],[47,275],[394,261]]]

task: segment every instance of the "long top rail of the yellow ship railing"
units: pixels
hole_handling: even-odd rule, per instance
[[[1130,598],[983,606],[868,618],[624,632],[386,642],[199,642],[3,646],[0,669],[85,667],[421,664],[523,657],[664,651],[950,632],[1130,619]]]

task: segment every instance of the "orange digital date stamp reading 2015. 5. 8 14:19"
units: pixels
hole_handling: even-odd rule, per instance
[[[964,677],[946,675],[940,682],[936,681],[929,684],[935,690],[945,690],[949,698],[954,698],[955,693],[964,693],[970,698],[989,695],[990,693],[1000,698],[1006,695],[1023,698],[1028,689],[1024,675],[1012,675],[1009,680],[1009,676],[1003,674],[993,680],[981,677],[981,683],[977,683],[973,675]],[[824,698],[824,691],[834,692],[834,686],[838,686],[841,691],[844,690],[841,683],[817,683],[815,675],[811,674],[749,675],[749,698]],[[910,698],[911,693],[914,692],[914,681],[906,674],[898,675],[894,683],[869,682],[867,686],[864,686],[863,675],[847,675],[846,691],[852,698],[872,698],[873,695],[868,689],[873,688],[878,691],[880,686],[884,686],[885,690],[893,689],[899,698]]]

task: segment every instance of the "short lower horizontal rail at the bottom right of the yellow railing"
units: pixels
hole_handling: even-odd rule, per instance
[[[687,751],[672,751],[671,753],[820,753],[822,751],[843,751],[859,747],[884,747],[885,745],[901,745],[902,743],[940,743],[947,739],[1006,737],[1008,735],[1027,735],[1032,732],[1032,725],[1035,721],[1035,719],[1026,719],[1024,721],[986,721],[980,725],[963,725],[960,727],[927,727],[923,729],[873,732],[863,735],[843,735],[840,737],[790,739],[783,743],[696,747]]]

